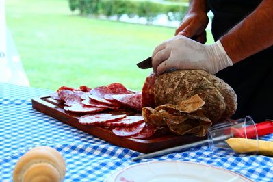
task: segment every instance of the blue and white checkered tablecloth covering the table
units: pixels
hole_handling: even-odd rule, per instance
[[[12,181],[16,161],[34,146],[51,146],[66,160],[64,181],[103,181],[109,174],[144,161],[175,160],[209,164],[243,174],[254,181],[273,181],[273,159],[207,146],[153,159],[131,161],[140,153],[109,144],[31,107],[31,98],[54,92],[0,83],[0,181]],[[262,140],[272,140],[266,135]]]

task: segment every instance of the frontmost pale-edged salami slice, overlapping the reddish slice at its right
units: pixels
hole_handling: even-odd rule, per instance
[[[129,137],[131,135],[137,135],[140,133],[140,131],[144,129],[145,125],[145,122],[142,122],[131,127],[116,127],[113,128],[112,131],[115,135]]]

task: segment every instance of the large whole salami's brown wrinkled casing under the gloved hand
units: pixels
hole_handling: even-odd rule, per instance
[[[213,123],[226,120],[237,109],[237,96],[231,86],[204,70],[175,70],[156,78],[155,106],[177,105],[195,94],[205,101],[203,114]]]

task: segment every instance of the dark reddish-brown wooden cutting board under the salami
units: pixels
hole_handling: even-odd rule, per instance
[[[181,144],[189,144],[192,142],[197,142],[199,140],[204,140],[205,138],[196,137],[194,135],[154,135],[148,139],[135,139],[135,138],[125,138],[120,137],[112,133],[110,129],[105,129],[102,127],[94,127],[90,125],[83,125],[78,122],[79,115],[71,114],[66,112],[64,108],[64,103],[51,99],[50,96],[41,96],[38,98],[31,99],[32,107],[39,112],[47,114],[61,122],[66,123],[72,127],[75,127],[86,133],[90,133],[97,138],[101,138],[107,142],[115,144],[117,146],[132,149],[134,151],[139,151],[141,153],[151,153],[154,151],[159,151],[165,148],[171,148],[174,146],[179,146]]]

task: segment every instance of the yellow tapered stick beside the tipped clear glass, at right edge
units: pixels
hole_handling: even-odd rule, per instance
[[[273,142],[246,138],[229,138],[226,142],[237,153],[259,153],[273,156]]]

